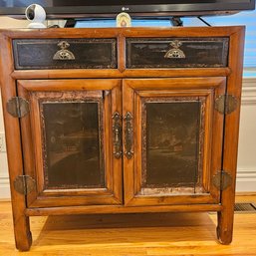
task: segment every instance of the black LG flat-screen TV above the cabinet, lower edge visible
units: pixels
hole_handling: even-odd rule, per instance
[[[172,17],[232,14],[253,10],[255,0],[0,0],[0,15],[25,18],[30,4],[42,5],[48,18]]]

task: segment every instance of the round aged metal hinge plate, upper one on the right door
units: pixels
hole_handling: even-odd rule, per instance
[[[215,100],[215,109],[221,114],[231,114],[237,106],[238,100],[232,95],[221,95]]]

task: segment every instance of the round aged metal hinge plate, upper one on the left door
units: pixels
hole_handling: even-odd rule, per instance
[[[23,118],[29,113],[29,103],[21,97],[13,97],[7,102],[7,112],[14,118]]]

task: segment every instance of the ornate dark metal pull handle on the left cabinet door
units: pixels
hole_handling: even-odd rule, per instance
[[[122,117],[116,112],[113,117],[113,143],[114,143],[114,155],[117,159],[122,156]]]

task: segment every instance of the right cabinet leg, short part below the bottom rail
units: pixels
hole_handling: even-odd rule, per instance
[[[234,209],[218,212],[217,238],[221,244],[230,244],[233,237]]]

